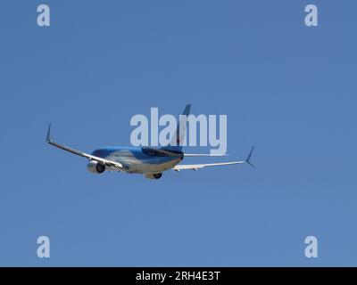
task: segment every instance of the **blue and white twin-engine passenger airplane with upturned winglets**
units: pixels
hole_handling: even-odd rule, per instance
[[[191,105],[187,104],[183,115],[188,116],[191,109]],[[180,170],[198,170],[203,167],[218,167],[228,166],[235,164],[249,164],[254,146],[249,152],[245,160],[229,161],[220,163],[208,163],[208,164],[192,164],[181,165],[179,164],[185,157],[203,157],[203,156],[216,156],[211,154],[189,154],[182,151],[182,142],[184,135],[186,134],[187,121],[183,121],[182,118],[177,126],[176,136],[172,138],[172,141],[166,147],[153,148],[149,146],[143,147],[104,147],[93,151],[91,154],[87,154],[82,151],[71,149],[65,145],[54,142],[51,135],[51,124],[48,126],[46,134],[46,142],[63,151],[69,151],[73,154],[79,155],[89,160],[87,164],[87,170],[94,174],[102,174],[104,171],[123,171],[129,174],[141,174],[149,179],[160,179],[162,172],[173,169],[175,171]],[[181,136],[179,137],[179,135]],[[176,143],[173,143],[174,140]]]

